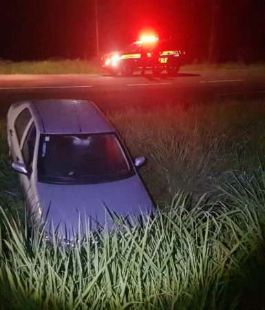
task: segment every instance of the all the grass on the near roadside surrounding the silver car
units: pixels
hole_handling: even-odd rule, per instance
[[[159,211],[71,248],[26,229],[2,120],[0,309],[262,309],[264,103],[109,114]]]

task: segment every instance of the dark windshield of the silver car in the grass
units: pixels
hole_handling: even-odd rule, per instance
[[[116,134],[41,135],[39,182],[104,183],[133,174]]]

